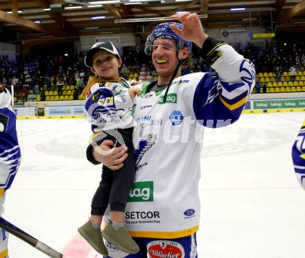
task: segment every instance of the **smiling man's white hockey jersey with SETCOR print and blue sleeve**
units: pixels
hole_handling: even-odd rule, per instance
[[[125,208],[132,237],[177,238],[193,234],[200,221],[202,125],[238,120],[255,82],[252,62],[227,44],[217,46],[217,73],[175,78],[164,92],[143,84],[134,100],[137,172]]]

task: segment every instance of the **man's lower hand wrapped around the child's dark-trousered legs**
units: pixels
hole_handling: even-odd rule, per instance
[[[126,153],[127,147],[113,147],[114,142],[112,140],[104,140],[100,146],[94,147],[93,156],[96,161],[103,163],[109,169],[117,170],[123,167],[123,161],[128,156]],[[109,154],[104,155],[105,151]]]

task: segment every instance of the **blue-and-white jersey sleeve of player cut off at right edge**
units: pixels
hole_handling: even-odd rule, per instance
[[[305,120],[293,145],[292,155],[295,174],[305,190]]]

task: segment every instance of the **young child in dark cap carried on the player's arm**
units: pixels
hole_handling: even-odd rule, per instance
[[[125,228],[124,210],[136,169],[132,143],[132,100],[140,91],[119,77],[122,60],[112,42],[94,44],[85,57],[85,64],[96,75],[89,79],[83,91],[87,93],[85,109],[94,132],[90,140],[92,150],[94,145],[112,140],[114,146],[128,147],[128,158],[119,170],[103,166],[102,180],[92,199],[91,216],[85,225],[78,228],[78,232],[104,256],[108,252],[103,237],[123,252],[137,253],[139,246]],[[101,222],[108,203],[111,221],[101,232]]]

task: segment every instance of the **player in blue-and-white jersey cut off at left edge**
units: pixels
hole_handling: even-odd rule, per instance
[[[6,190],[15,178],[20,161],[12,97],[8,89],[0,85],[0,216],[4,210]],[[0,230],[0,257],[8,257],[8,232],[3,228]]]

